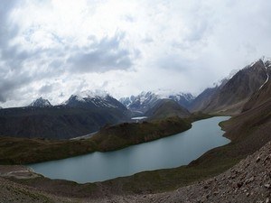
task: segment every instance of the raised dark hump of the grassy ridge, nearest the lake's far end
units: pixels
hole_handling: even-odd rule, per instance
[[[174,116],[152,122],[108,126],[101,129],[91,140],[98,144],[99,151],[106,152],[178,134],[191,127],[191,123]]]

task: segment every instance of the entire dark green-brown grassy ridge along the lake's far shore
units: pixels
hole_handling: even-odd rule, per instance
[[[179,118],[141,124],[107,126],[85,140],[53,141],[14,137],[0,138],[0,164],[25,164],[51,161],[89,152],[107,152],[181,133],[192,125]]]

